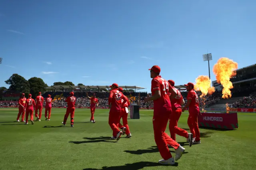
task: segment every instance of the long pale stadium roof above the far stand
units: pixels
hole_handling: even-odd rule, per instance
[[[142,90],[142,89],[146,89],[144,87],[138,87],[138,86],[119,86],[122,87],[123,89],[134,89],[136,90]],[[109,85],[106,86],[100,86],[100,85],[81,85],[81,86],[71,86],[71,85],[52,85],[49,87],[46,87],[46,90],[64,90],[64,89],[69,89],[69,90],[73,90],[73,89],[111,89],[111,87]]]

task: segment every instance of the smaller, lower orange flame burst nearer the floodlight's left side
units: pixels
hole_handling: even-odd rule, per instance
[[[207,93],[211,95],[215,91],[214,87],[211,87],[210,78],[206,75],[200,75],[196,78],[195,89],[202,92],[200,97],[207,95]]]

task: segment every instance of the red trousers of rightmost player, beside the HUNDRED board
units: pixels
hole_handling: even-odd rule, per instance
[[[190,111],[188,110],[188,127],[190,128],[190,132],[195,136],[195,140],[200,140],[200,131],[198,128],[198,115],[200,111]]]

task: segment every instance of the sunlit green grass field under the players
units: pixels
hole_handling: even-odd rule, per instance
[[[44,112],[44,110],[43,110]],[[110,140],[108,109],[96,109],[90,123],[89,109],[76,109],[74,128],[62,127],[65,109],[53,109],[51,121],[34,125],[14,122],[18,109],[0,109],[0,170],[252,170],[256,169],[256,114],[239,113],[237,130],[200,128],[202,144],[188,146],[176,166],[161,166],[162,159],[152,127],[152,111],[140,111],[140,119],[129,119],[132,138]],[[188,113],[179,127],[188,130]],[[168,132],[168,129],[166,129]],[[168,132],[170,134],[170,132]],[[174,149],[170,148],[172,155]]]

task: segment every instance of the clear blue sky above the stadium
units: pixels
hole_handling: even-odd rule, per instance
[[[208,75],[202,54],[256,63],[254,0],[0,1],[0,87],[13,73],[48,85],[136,85],[159,65],[176,85]]]

